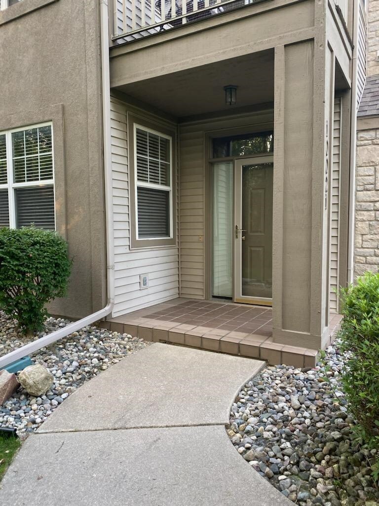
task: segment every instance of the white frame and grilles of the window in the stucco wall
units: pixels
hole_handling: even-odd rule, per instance
[[[14,164],[13,164],[13,146],[12,134],[15,132],[24,132],[29,129],[42,128],[43,126],[50,126],[52,132],[52,163],[53,163],[53,177],[51,179],[43,179],[37,181],[25,181],[23,183],[14,182]],[[17,228],[17,209],[16,209],[16,189],[17,188],[35,188],[53,186],[54,195],[54,230],[57,230],[57,213],[56,213],[56,190],[55,190],[55,164],[54,164],[54,129],[52,121],[44,121],[41,123],[33,123],[29,125],[19,126],[10,130],[0,131],[0,135],[5,135],[6,138],[6,160],[7,160],[7,183],[0,184],[0,190],[8,191],[8,208],[9,208],[9,228]]]

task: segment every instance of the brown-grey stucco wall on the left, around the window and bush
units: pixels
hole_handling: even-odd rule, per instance
[[[55,150],[61,195],[56,213],[73,270],[68,297],[50,309],[79,318],[105,302],[99,3],[39,2],[38,10],[12,20],[12,9],[26,2],[0,13],[0,130],[32,118],[53,120],[54,133],[61,132]],[[50,116],[57,110],[60,119]]]

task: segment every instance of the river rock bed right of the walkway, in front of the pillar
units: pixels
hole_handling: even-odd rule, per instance
[[[241,390],[228,435],[250,465],[300,506],[379,506],[370,476],[375,454],[354,441],[354,419],[339,390],[338,343],[330,371],[267,367]]]

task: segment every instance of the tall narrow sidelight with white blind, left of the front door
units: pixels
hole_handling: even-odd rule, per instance
[[[213,296],[231,298],[233,269],[233,163],[218,162],[213,175]]]

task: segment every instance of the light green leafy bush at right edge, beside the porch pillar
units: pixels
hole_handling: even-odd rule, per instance
[[[379,448],[379,274],[367,272],[341,291],[341,382],[361,440]],[[379,461],[373,467],[379,476]]]

